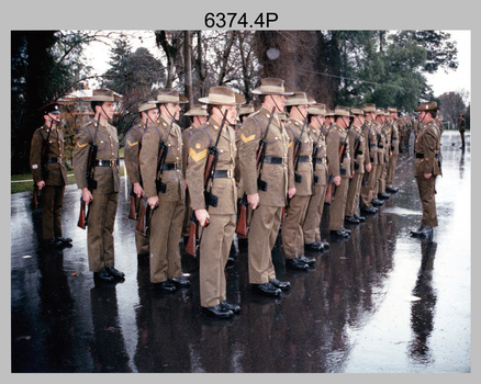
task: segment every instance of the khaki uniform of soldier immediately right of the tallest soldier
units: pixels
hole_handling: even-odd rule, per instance
[[[286,259],[297,259],[304,255],[304,231],[302,230],[302,225],[307,212],[309,200],[312,195],[314,179],[312,170],[312,139],[307,127],[304,127],[304,132],[302,132],[302,125],[303,122],[295,118],[289,118],[284,122],[284,128],[290,140],[289,153],[292,153],[293,162],[295,162],[293,158],[295,140],[301,140],[298,154],[298,169],[295,170],[295,163],[293,163],[294,172],[289,181],[291,185],[295,187],[297,192],[289,202],[288,215],[282,223],[281,229],[282,249]],[[295,180],[297,178],[300,178],[300,180]]]

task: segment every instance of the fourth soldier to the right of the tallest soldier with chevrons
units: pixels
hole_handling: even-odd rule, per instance
[[[365,112],[360,108],[351,108],[350,113],[355,116],[349,129],[349,149],[353,159],[353,178],[349,180],[347,191],[345,221],[349,224],[365,222],[366,217],[358,215],[359,194],[365,171],[371,171],[371,161],[366,143],[367,124],[365,124]]]

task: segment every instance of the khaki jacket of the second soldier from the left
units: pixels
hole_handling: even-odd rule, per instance
[[[90,144],[96,135],[97,121],[90,121],[77,132],[77,144],[74,149],[74,172],[79,189],[87,188],[87,167]],[[97,190],[101,193],[119,192],[120,167],[113,161],[119,161],[119,138],[116,128],[109,123],[99,124],[97,129],[97,160],[111,161],[109,167],[94,167],[93,179]]]

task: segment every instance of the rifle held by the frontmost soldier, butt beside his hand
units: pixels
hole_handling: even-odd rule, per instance
[[[209,156],[205,163],[205,171],[204,171],[204,196],[205,196],[205,210],[209,211],[209,206],[217,206],[219,197],[212,194],[212,185],[214,183],[214,177],[215,177],[215,168],[217,167],[217,158],[219,158],[219,139],[221,138],[222,128],[225,124],[225,120],[227,116],[227,111],[224,112],[224,115],[222,117],[221,127],[219,128],[219,134],[215,139],[215,145],[209,147]],[[209,180],[211,181],[211,187],[209,191],[205,189],[208,188]],[[189,239],[187,241],[187,245],[184,247],[184,250],[188,255],[192,257],[197,257],[199,255],[199,247],[200,242],[202,240],[202,235],[204,231],[204,228],[209,226],[209,221],[205,223],[205,225],[201,229],[201,234],[198,238],[198,227],[199,227],[199,221],[195,217],[195,212],[192,212],[192,215],[190,216],[190,229],[189,229]]]

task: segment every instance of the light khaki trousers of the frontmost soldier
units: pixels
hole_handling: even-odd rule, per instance
[[[235,230],[235,215],[210,215],[199,246],[200,302],[212,307],[226,300],[225,264]]]

